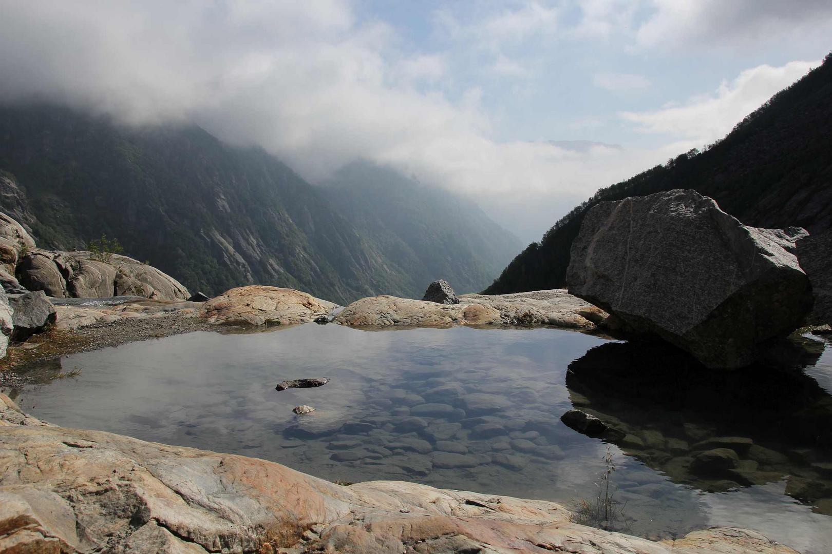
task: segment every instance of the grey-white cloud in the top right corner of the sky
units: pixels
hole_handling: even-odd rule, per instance
[[[636,44],[643,48],[748,48],[784,37],[825,48],[832,31],[828,0],[651,0],[646,7],[651,16],[636,32]]]

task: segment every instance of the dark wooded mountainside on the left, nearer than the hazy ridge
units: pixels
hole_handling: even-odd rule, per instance
[[[196,126],[126,128],[56,105],[0,106],[0,171],[0,211],[40,247],[83,249],[105,233],[192,291],[257,283],[344,303],[420,297],[428,285],[279,159]]]

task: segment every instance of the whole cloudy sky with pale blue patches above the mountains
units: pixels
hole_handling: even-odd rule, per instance
[[[0,0],[0,101],[194,123],[312,183],[390,164],[529,243],[726,135],[830,37],[828,0]]]

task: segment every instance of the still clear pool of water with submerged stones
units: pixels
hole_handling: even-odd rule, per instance
[[[725,376],[556,329],[308,324],[71,355],[27,368],[44,384],[4,392],[64,426],[241,453],[330,480],[404,479],[573,508],[596,497],[609,448],[626,532],[748,527],[820,553],[832,548],[832,356],[807,344],[775,370]],[[72,370],[81,374],[49,380]],[[300,377],[331,380],[275,390]],[[295,415],[298,404],[316,410]],[[560,416],[573,406],[617,434],[605,442],[567,428]],[[702,444],[734,449],[740,465],[691,471]]]

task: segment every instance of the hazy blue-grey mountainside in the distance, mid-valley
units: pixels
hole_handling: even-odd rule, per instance
[[[443,278],[457,292],[478,292],[522,244],[473,203],[389,167],[354,162],[325,186],[339,213],[404,270],[405,290],[421,294]]]

